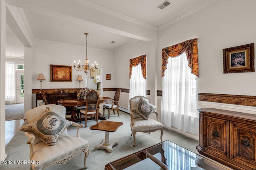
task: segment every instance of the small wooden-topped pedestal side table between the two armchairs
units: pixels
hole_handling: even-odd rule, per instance
[[[114,132],[123,123],[118,121],[100,121],[96,125],[90,127],[91,130],[105,131],[105,139],[102,140],[100,145],[95,146],[95,149],[106,149],[108,152],[113,151],[113,146],[118,145],[118,141],[109,141],[109,132]]]

